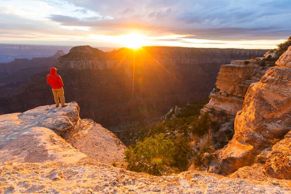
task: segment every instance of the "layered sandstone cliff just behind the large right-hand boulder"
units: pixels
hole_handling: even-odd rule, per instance
[[[246,63],[247,62],[247,63]],[[262,58],[247,61],[232,61],[230,65],[221,65],[216,80],[217,89],[210,93],[210,102],[201,113],[210,112],[212,119],[219,120],[220,115],[235,117],[242,110],[245,93],[251,83],[258,82],[268,68],[260,65]]]

